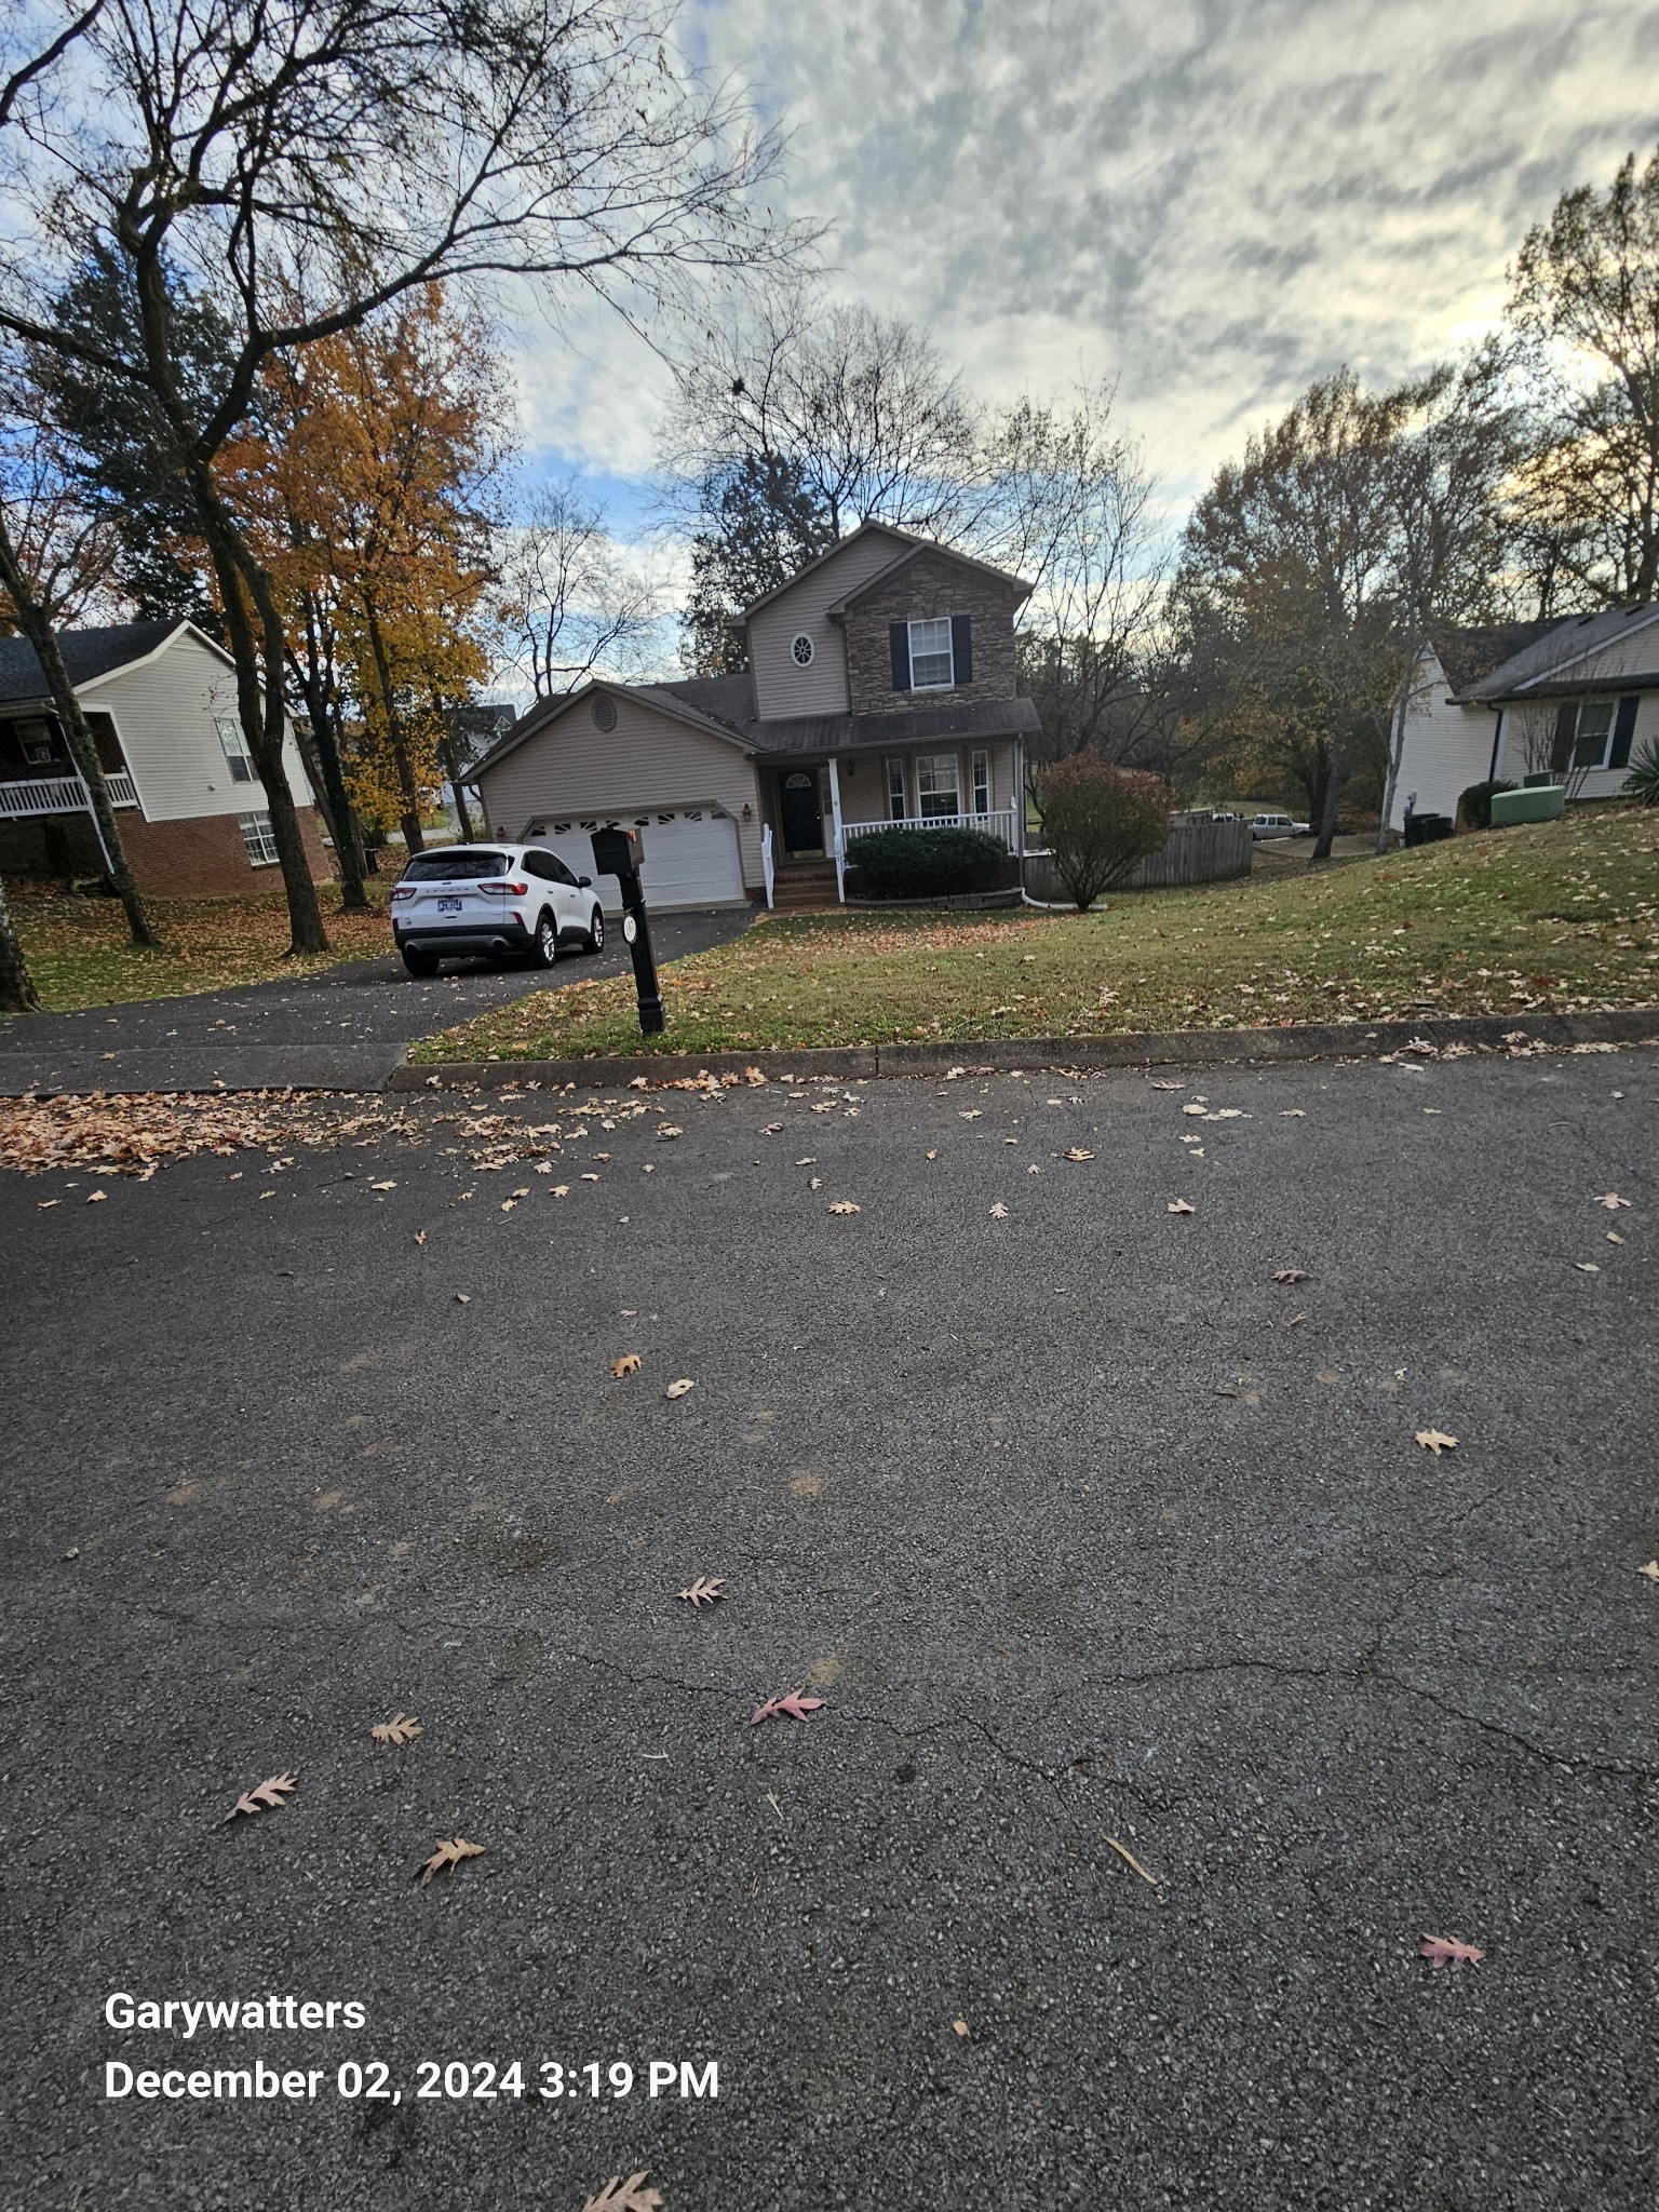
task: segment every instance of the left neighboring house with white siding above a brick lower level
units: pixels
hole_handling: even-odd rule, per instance
[[[237,721],[230,655],[181,619],[62,630],[58,641],[139,889],[223,898],[274,885],[276,845]],[[334,869],[292,737],[285,761],[321,880]],[[0,637],[0,867],[88,876],[104,867],[86,785],[24,637]]]

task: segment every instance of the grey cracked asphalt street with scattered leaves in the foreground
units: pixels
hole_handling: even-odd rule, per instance
[[[0,1181],[2,2201],[1652,2205],[1655,1055],[611,1097]]]

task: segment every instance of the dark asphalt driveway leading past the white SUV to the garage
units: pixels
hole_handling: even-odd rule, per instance
[[[745,909],[653,916],[659,960],[723,945],[748,929]],[[387,931],[387,942],[392,933]],[[626,975],[628,947],[611,931],[604,953],[564,953],[557,969],[465,960],[416,980],[403,962],[354,960],[292,982],[190,998],[18,1015],[0,1024],[0,1097],[27,1091],[376,1088],[416,1037],[467,1022],[524,991],[586,975]]]

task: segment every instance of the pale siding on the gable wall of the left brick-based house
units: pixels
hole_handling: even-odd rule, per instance
[[[190,630],[159,653],[80,686],[88,712],[108,714],[133,770],[146,821],[192,821],[204,814],[263,814],[263,783],[232,783],[215,717],[237,714],[237,679]],[[310,807],[312,787],[292,737],[283,748],[294,805]]]

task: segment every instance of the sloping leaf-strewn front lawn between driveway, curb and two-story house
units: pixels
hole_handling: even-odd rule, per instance
[[[664,969],[666,1051],[1097,1037],[1659,1000],[1659,814],[1141,891],[1088,916],[805,914]],[[637,1053],[628,978],[513,1000],[416,1060]]]

